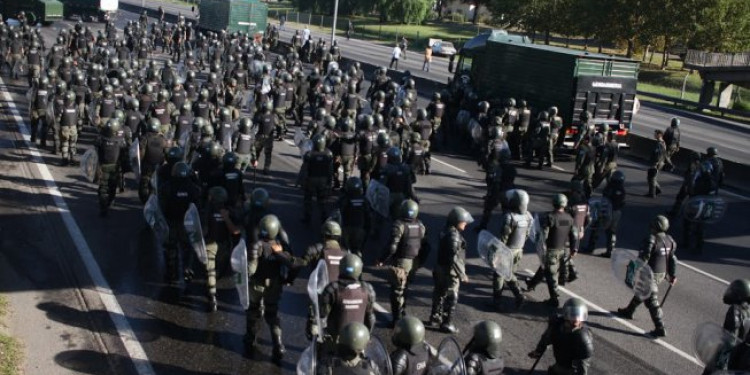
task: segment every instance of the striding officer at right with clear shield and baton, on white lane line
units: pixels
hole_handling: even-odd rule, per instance
[[[617,309],[617,315],[625,319],[633,319],[635,309],[641,303],[645,303],[655,326],[655,329],[650,334],[655,337],[664,337],[667,333],[664,329],[663,313],[661,306],[659,306],[657,287],[665,278],[672,285],[677,281],[677,257],[675,256],[677,243],[672,236],[667,234],[669,219],[662,215],[656,216],[651,221],[649,230],[650,234],[643,241],[638,257],[646,262],[654,272],[652,293],[645,301],[641,301],[638,297],[633,296],[627,307]]]

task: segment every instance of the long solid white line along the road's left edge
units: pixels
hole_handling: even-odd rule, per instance
[[[115,297],[112,288],[110,288],[107,280],[102,274],[101,268],[99,268],[99,265],[96,263],[96,259],[94,259],[94,255],[91,253],[91,248],[89,248],[86,238],[83,236],[83,232],[81,232],[81,228],[78,226],[75,218],[73,218],[73,214],[70,212],[67,203],[65,203],[65,199],[60,193],[60,189],[57,187],[57,184],[55,184],[54,177],[52,177],[47,165],[44,164],[44,160],[42,160],[39,150],[37,150],[31,143],[29,129],[23,118],[21,118],[15,103],[13,103],[13,99],[8,93],[7,86],[2,78],[0,78],[0,87],[2,88],[3,99],[8,104],[23,139],[30,146],[29,152],[33,157],[33,163],[36,164],[36,167],[39,170],[39,174],[42,179],[44,179],[47,193],[52,196],[52,199],[57,206],[57,210],[60,212],[60,216],[62,216],[63,222],[68,229],[68,233],[70,233],[70,237],[78,250],[78,255],[81,257],[81,261],[83,261],[89,276],[91,276],[91,281],[94,283],[95,291],[99,295],[99,298],[101,298],[104,308],[109,312],[109,317],[112,319],[115,329],[117,329],[120,340],[133,361],[133,366],[138,374],[155,374],[143,346],[138,342],[138,338],[135,336],[133,329],[130,327],[130,323],[128,323],[128,320],[125,317],[125,313],[122,311],[122,307],[117,302],[117,297]]]

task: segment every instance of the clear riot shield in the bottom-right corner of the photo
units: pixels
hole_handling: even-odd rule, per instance
[[[713,322],[701,323],[693,333],[695,358],[709,371],[727,368],[732,349],[738,339],[720,325]]]

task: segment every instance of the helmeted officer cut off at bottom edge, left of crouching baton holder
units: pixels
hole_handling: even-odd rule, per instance
[[[502,374],[505,368],[505,360],[500,349],[502,341],[503,331],[497,323],[485,320],[475,325],[468,353],[464,356],[466,374]]]

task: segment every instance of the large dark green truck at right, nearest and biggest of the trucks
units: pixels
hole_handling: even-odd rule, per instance
[[[511,97],[524,99],[536,113],[556,106],[566,138],[575,136],[581,114],[588,111],[589,125],[614,131],[620,145],[627,146],[636,105],[635,60],[534,44],[493,30],[467,41],[448,68],[454,73],[454,93],[466,92],[468,86],[493,106]]]

